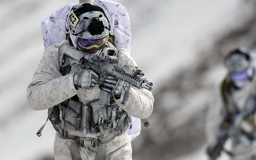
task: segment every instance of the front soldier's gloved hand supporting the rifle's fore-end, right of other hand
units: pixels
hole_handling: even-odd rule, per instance
[[[116,99],[120,99],[120,103],[125,105],[130,97],[131,86],[127,82],[116,79],[112,75],[103,75],[99,77],[99,89],[111,93]]]

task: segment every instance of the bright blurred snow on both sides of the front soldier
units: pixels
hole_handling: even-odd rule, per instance
[[[52,125],[47,123],[41,137],[35,134],[44,124],[47,111],[33,111],[29,107],[26,87],[44,52],[41,20],[67,3],[76,2],[0,1],[1,160],[35,160],[53,153],[55,131]],[[162,86],[162,81],[175,76],[181,68],[195,64],[201,56],[198,49],[207,47],[218,35],[239,25],[234,23],[239,0],[117,2],[123,3],[130,15],[131,55],[147,79],[154,83],[154,93]],[[183,112],[195,114],[196,109]],[[177,160],[191,158],[206,159],[204,148]]]

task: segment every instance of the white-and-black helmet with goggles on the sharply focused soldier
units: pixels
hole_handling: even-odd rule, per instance
[[[90,3],[74,6],[66,24],[74,47],[84,52],[95,53],[108,41],[110,22],[99,6]]]

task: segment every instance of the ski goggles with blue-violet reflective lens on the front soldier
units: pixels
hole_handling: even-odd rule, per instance
[[[108,41],[109,33],[101,38],[88,39],[77,36],[76,47],[84,52],[102,49]]]

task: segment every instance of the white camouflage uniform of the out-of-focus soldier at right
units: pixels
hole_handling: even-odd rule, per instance
[[[209,110],[206,118],[205,133],[207,136],[207,145],[211,146],[217,140],[217,137],[221,134],[221,125],[227,113],[227,109],[224,105],[224,101],[221,95],[221,85],[216,87],[218,90],[213,93],[213,99],[210,103]],[[239,111],[243,110],[247,98],[256,94],[256,77],[252,81],[247,81],[247,84],[241,89],[232,89],[232,99],[237,105]],[[255,123],[255,114],[252,116],[252,121]],[[240,125],[241,128],[246,128],[248,121],[243,121]],[[254,130],[255,125],[249,124]],[[253,132],[256,134],[256,131]],[[234,156],[232,160],[255,160],[256,159],[256,141],[253,140],[251,144],[238,142],[236,138],[231,139],[231,152]],[[222,152],[223,153],[223,152]]]

